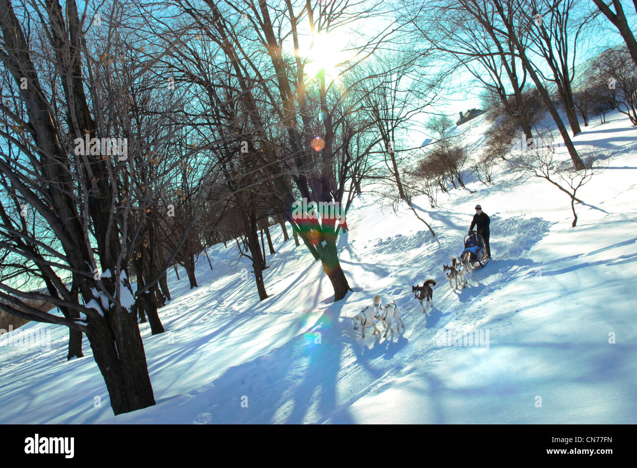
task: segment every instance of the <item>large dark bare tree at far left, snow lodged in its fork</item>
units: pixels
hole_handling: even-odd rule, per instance
[[[0,59],[15,83],[0,103],[0,136],[10,143],[0,148],[0,242],[11,252],[8,269],[2,268],[0,308],[84,332],[117,415],[155,403],[127,280],[152,197],[132,196],[124,187],[132,168],[142,160],[152,164],[147,153],[162,141],[123,137],[122,110],[132,103],[126,92],[131,83],[120,73],[130,66],[122,37],[132,31],[122,5],[104,6],[109,14],[102,32],[83,6],[80,15],[75,0],[65,10],[50,0],[21,6],[0,1]],[[142,43],[131,55],[143,51]],[[153,63],[147,57],[143,69]],[[158,111],[155,125],[163,126],[171,111]],[[23,222],[16,202],[27,204],[37,220]],[[43,236],[38,226],[44,224],[50,234]],[[31,284],[45,285],[46,292],[26,286]],[[45,313],[29,299],[79,316]]]

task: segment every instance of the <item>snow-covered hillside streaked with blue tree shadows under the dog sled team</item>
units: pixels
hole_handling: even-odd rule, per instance
[[[169,271],[166,333],[140,325],[155,406],[113,416],[87,341],[66,362],[68,331],[31,322],[13,334],[50,332],[50,348],[0,348],[0,423],[637,423],[637,129],[615,113],[574,141],[610,158],[578,192],[575,228],[566,194],[505,170],[435,210],[417,199],[434,238],[364,194],[339,239],[345,300],[332,302],[320,263],[279,227],[262,302],[246,260],[214,246],[201,287]],[[476,203],[494,258],[452,291],[442,266]],[[410,293],[427,278],[438,285],[424,315]],[[361,339],[348,316],[375,294],[396,300],[406,327]],[[471,331],[477,346],[456,346]]]

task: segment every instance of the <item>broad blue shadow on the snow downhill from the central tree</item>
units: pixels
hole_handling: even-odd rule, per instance
[[[344,346],[338,319],[349,295],[325,309],[311,329],[266,355],[229,367],[207,385],[199,401],[209,402],[206,411],[210,421],[315,423],[329,417],[336,409],[336,381]],[[231,320],[222,328],[233,334],[238,323]],[[209,337],[198,341],[206,342]],[[241,406],[244,396],[247,408]],[[192,408],[201,413],[201,404]],[[338,415],[340,422],[352,423],[347,409]],[[195,420],[196,416],[185,417]]]

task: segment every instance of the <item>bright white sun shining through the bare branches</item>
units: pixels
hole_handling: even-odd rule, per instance
[[[313,79],[321,71],[325,71],[326,78],[338,80],[340,76],[339,68],[351,59],[348,53],[343,51],[347,47],[347,39],[334,32],[318,32],[314,35],[314,40],[303,57],[308,59],[304,73],[308,79]]]

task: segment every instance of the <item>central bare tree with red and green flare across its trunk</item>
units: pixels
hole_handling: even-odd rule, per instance
[[[296,224],[290,216],[294,197],[286,176],[292,178],[306,201],[318,206],[338,204],[343,209],[344,188],[352,174],[347,142],[353,134],[343,121],[355,110],[356,103],[351,101],[349,89],[339,89],[326,67],[308,76],[306,65],[310,60],[299,48],[308,39],[316,46],[325,40],[326,32],[329,36],[362,15],[381,16],[386,8],[378,2],[361,11],[361,4],[346,0],[329,8],[291,0],[261,0],[245,6],[231,1],[204,3],[206,8],[197,10],[187,2],[179,4],[197,21],[206,41],[215,43],[224,53],[240,89],[241,106],[249,117],[251,138],[247,141],[254,142],[255,159],[268,171],[285,200],[286,218]],[[357,49],[353,50],[356,57],[351,63],[340,64],[341,76],[378,50],[389,31],[388,27],[365,45],[353,48]],[[287,50],[299,53],[289,55]],[[202,73],[194,77],[203,78]],[[269,134],[271,125],[280,125],[285,134],[282,148]],[[338,260],[340,225],[334,218],[323,217],[310,229],[298,228],[296,225],[297,234],[312,255],[321,260],[334,288],[334,300],[342,299],[350,287]]]

